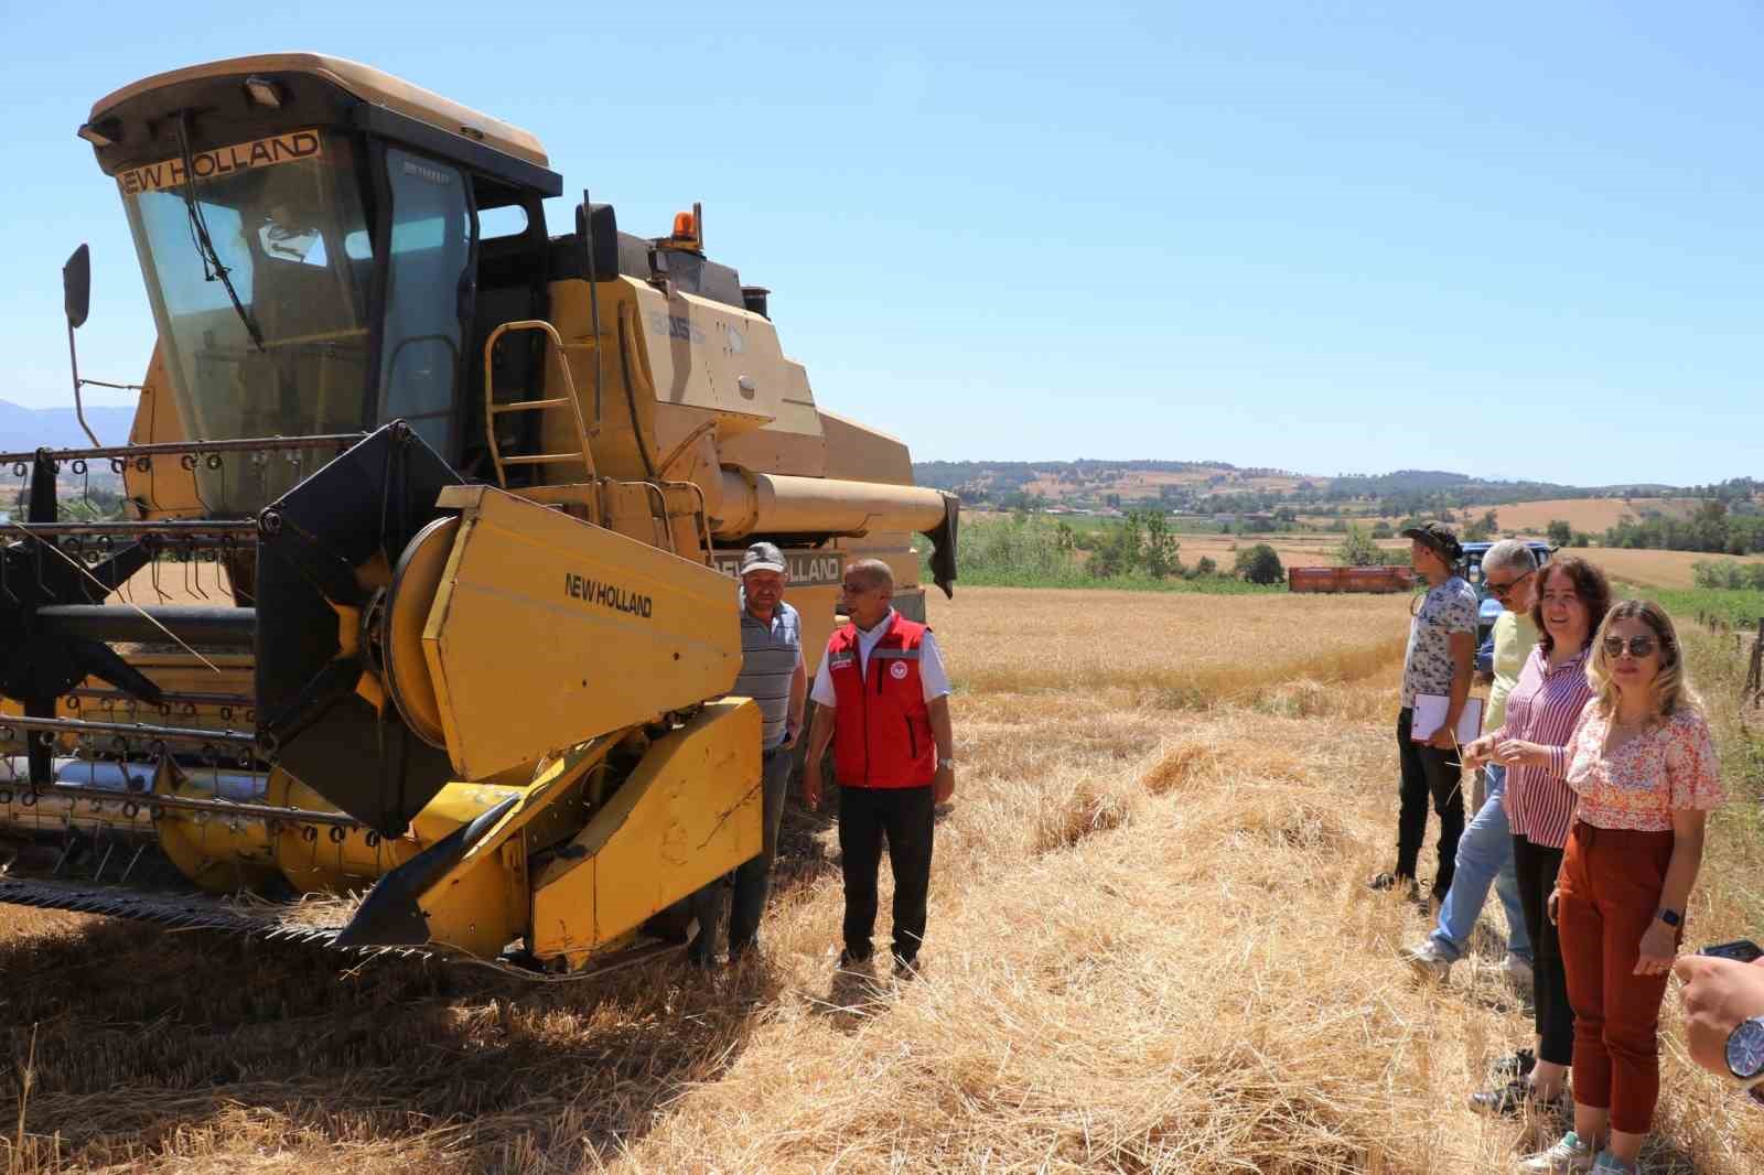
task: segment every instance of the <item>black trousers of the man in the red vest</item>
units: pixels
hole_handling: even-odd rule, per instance
[[[877,924],[882,843],[894,872],[894,956],[912,962],[924,942],[924,898],[931,889],[935,805],[924,787],[841,787],[840,856],[845,870],[845,949],[870,958]]]

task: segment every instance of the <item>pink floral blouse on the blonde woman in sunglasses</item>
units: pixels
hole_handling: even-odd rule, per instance
[[[1588,706],[1568,745],[1568,787],[1577,819],[1593,827],[1672,831],[1672,812],[1718,808],[1725,797],[1709,723],[1692,707],[1649,725],[1612,752],[1611,718]]]

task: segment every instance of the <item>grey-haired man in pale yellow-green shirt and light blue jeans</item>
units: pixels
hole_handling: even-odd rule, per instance
[[[1494,683],[1489,686],[1489,706],[1484,711],[1482,730],[1499,730],[1506,722],[1506,695],[1519,683],[1531,647],[1538,642],[1531,623],[1531,603],[1536,596],[1536,554],[1517,538],[1506,538],[1489,547],[1482,556],[1482,582],[1489,595],[1501,602],[1505,612],[1494,621]],[[1439,924],[1418,947],[1404,958],[1424,977],[1441,983],[1452,974],[1452,963],[1469,947],[1469,933],[1476,926],[1482,905],[1489,900],[1489,886],[1506,909],[1506,965],[1508,977],[1522,992],[1531,990],[1531,939],[1526,935],[1524,909],[1519,905],[1519,877],[1514,873],[1514,836],[1506,824],[1506,767],[1491,762],[1482,767],[1482,801],[1475,817],[1457,842],[1457,872],[1452,887],[1439,903]],[[1517,1071],[1529,1060],[1519,1055]]]

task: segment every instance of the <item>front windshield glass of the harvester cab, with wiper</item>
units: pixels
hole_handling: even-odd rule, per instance
[[[183,182],[183,161],[120,176],[191,438],[372,427],[379,415],[369,370],[374,256],[349,141],[302,131],[198,152],[192,171],[192,185]],[[224,281],[215,263],[226,268]],[[250,512],[330,457],[205,460],[201,494],[213,512]]]

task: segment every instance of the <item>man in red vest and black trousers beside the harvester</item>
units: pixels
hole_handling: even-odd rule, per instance
[[[933,813],[956,792],[956,760],[944,658],[931,630],[896,612],[893,602],[887,563],[857,559],[845,568],[840,609],[850,623],[827,640],[810,692],[815,725],[803,799],[820,805],[820,760],[833,743],[845,872],[840,967],[870,963],[886,840],[894,872],[894,974],[910,977],[924,942]]]

